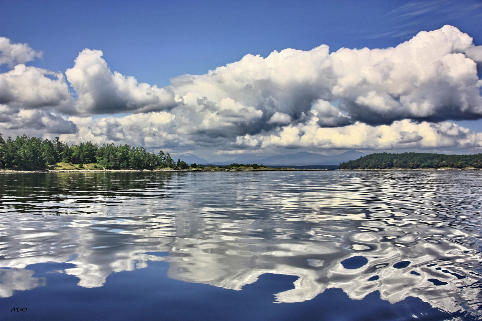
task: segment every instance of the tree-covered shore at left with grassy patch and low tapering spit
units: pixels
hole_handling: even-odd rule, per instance
[[[205,165],[174,161],[169,153],[162,150],[150,153],[143,147],[114,143],[98,146],[91,141],[78,145],[60,141],[58,137],[50,141],[27,135],[6,140],[0,134],[0,168],[14,170],[42,169],[188,169],[204,168]],[[266,168],[257,164],[231,164],[223,167],[208,165],[206,168]]]

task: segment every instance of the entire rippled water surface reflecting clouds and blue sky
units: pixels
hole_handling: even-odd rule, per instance
[[[4,174],[0,315],[480,320],[481,174]]]

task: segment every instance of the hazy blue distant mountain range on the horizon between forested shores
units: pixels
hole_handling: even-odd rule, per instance
[[[232,161],[224,162],[208,162],[207,160],[192,154],[183,154],[179,157],[182,161],[187,164],[216,164],[216,165],[228,165],[232,163],[239,164],[258,164],[258,165],[280,165],[280,166],[305,166],[305,165],[340,165],[340,163],[348,162],[350,160],[358,159],[366,154],[358,152],[355,150],[350,150],[342,154],[326,156],[322,154],[299,152],[296,154],[284,154],[275,155],[269,157],[253,157],[250,155],[243,155]],[[175,160],[176,160],[175,159]]]

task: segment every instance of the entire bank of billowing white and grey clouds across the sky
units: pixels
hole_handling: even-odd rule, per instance
[[[37,54],[2,41],[27,52],[2,49],[2,63]],[[450,122],[482,118],[482,46],[453,26],[422,31],[395,48],[248,54],[164,88],[112,72],[102,55],[84,49],[65,77],[23,64],[1,74],[1,127],[63,133],[70,142],[230,153],[482,146],[482,133]],[[131,115],[106,116],[117,113]]]

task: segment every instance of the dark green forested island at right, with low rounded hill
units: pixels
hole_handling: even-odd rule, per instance
[[[342,163],[339,169],[482,168],[482,154],[376,153]]]

